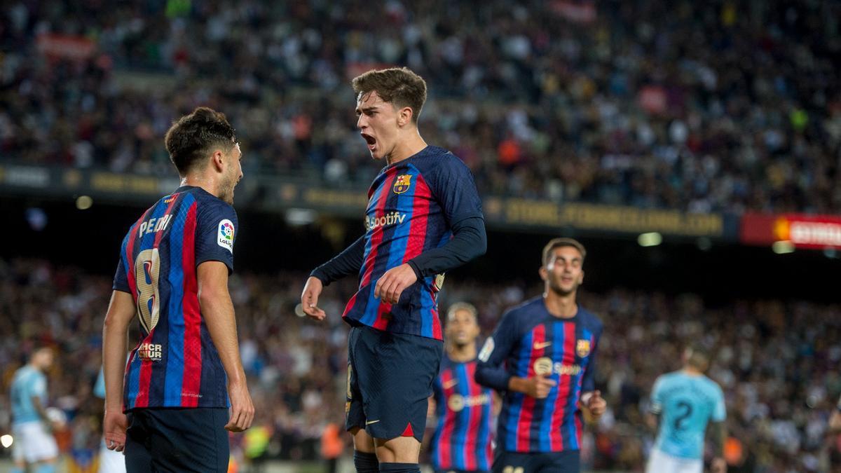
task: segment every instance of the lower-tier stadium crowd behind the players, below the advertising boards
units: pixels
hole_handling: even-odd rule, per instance
[[[232,435],[234,451],[312,460],[327,423],[343,419],[346,333],[339,314],[352,291],[346,279],[321,299],[323,323],[296,315],[304,274],[241,274],[231,279],[242,359],[257,418],[251,431]],[[66,454],[90,458],[98,447],[102,401],[91,391],[101,362],[103,315],[111,279],[40,259],[0,260],[0,431],[8,432],[8,383],[35,343],[53,345],[50,405],[70,426],[61,434]],[[506,307],[539,294],[537,285],[449,283],[442,309],[457,300],[479,308],[484,334]],[[841,441],[825,428],[841,376],[838,306],[798,301],[738,300],[705,306],[697,295],[614,290],[585,294],[582,302],[605,322],[597,359],[597,386],[609,411],[590,429],[584,459],[597,469],[644,465],[653,435],[643,413],[655,377],[680,367],[687,343],[714,353],[710,375],[727,398],[727,459],[732,471],[826,470]],[[431,424],[431,423],[430,423]],[[259,429],[259,430],[258,430]],[[249,432],[251,432],[249,431]],[[257,442],[255,447],[254,443]],[[87,455],[87,457],[86,457]],[[838,461],[838,458],[835,458]],[[838,465],[838,463],[836,463]]]

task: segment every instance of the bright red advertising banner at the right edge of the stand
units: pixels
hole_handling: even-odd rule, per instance
[[[742,216],[740,235],[748,245],[791,242],[798,248],[841,248],[841,216],[748,212]]]

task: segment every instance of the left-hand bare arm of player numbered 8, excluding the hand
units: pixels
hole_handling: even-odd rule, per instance
[[[123,410],[123,374],[129,325],[135,316],[135,300],[127,292],[111,294],[103,324],[103,375],[105,377],[105,409]]]

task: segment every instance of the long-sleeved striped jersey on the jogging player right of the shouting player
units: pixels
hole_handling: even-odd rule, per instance
[[[505,392],[498,449],[520,453],[580,449],[579,398],[595,389],[595,349],[601,331],[600,320],[581,306],[574,317],[563,319],[547,311],[542,297],[505,313],[479,353],[477,379],[487,384],[487,370],[502,369],[508,378],[544,374],[557,384],[546,399]]]

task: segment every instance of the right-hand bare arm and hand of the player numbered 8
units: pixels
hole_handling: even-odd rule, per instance
[[[240,346],[236,339],[234,304],[228,292],[228,267],[225,263],[206,261],[198,265],[198,304],[219,352],[225,374],[228,375],[230,421],[225,428],[232,432],[242,432],[251,427],[254,405],[248,393],[246,373],[242,369]]]

